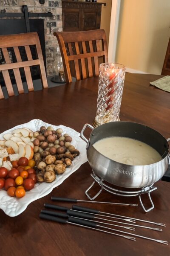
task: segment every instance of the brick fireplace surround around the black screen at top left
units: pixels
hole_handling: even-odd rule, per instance
[[[52,76],[53,70],[53,49],[58,46],[56,37],[53,36],[54,29],[62,31],[62,3],[61,0],[45,0],[40,4],[39,0],[0,0],[0,12],[22,12],[22,6],[27,5],[29,12],[47,13],[51,12],[52,17],[38,17],[44,19],[45,52],[47,76]]]

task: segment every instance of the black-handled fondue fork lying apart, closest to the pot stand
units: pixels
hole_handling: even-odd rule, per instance
[[[55,196],[51,196],[52,201],[63,201],[63,202],[72,202],[72,203],[98,203],[98,204],[115,204],[115,205],[129,205],[129,206],[138,206],[138,204],[122,204],[122,203],[112,203],[112,202],[99,202],[99,201],[88,201],[88,200],[78,200],[75,198],[59,198]]]

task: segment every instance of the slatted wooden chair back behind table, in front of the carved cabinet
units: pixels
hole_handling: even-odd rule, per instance
[[[102,62],[108,62],[104,29],[54,32],[54,35],[59,43],[66,82],[72,81],[73,73],[77,80],[98,76],[98,57],[103,57]]]

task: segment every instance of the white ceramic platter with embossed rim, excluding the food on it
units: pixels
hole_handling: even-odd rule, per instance
[[[74,131],[72,128],[66,127],[64,125],[51,125],[43,122],[40,119],[33,119],[28,123],[17,125],[7,131],[0,134],[0,140],[3,139],[3,135],[10,133],[16,128],[29,128],[32,131],[37,131],[41,126],[52,126],[54,129],[62,128],[63,133],[69,134],[73,140],[72,145],[75,146],[80,151],[78,157],[76,157],[70,167],[66,168],[66,171],[62,175],[57,175],[56,180],[52,183],[36,183],[34,189],[26,192],[23,198],[14,198],[7,195],[7,192],[3,189],[0,190],[0,209],[2,209],[8,216],[14,217],[22,213],[31,202],[48,195],[55,187],[59,186],[65,179],[67,179],[73,172],[75,172],[79,167],[87,161],[86,157],[86,143],[79,137],[79,133]]]

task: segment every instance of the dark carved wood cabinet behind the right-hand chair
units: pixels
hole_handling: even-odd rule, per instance
[[[100,29],[102,3],[62,0],[63,31]]]

